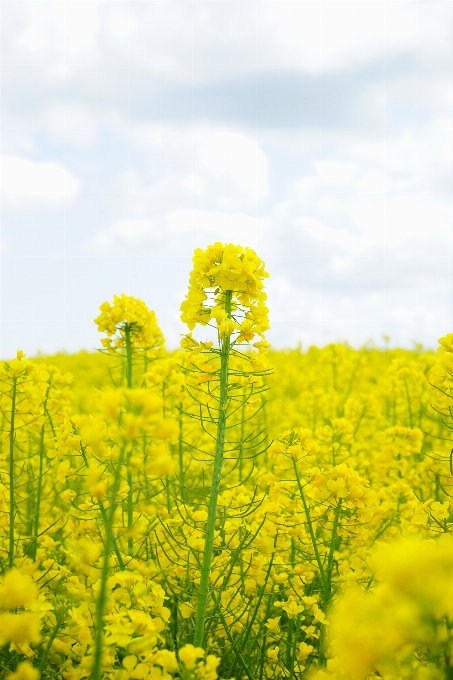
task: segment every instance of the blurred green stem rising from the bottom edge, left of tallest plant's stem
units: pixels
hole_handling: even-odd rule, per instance
[[[92,670],[92,680],[100,680],[102,676],[101,671],[101,661],[102,661],[102,642],[104,638],[104,613],[107,604],[107,580],[109,576],[109,560],[110,560],[110,550],[112,548],[111,536],[113,534],[113,520],[116,510],[116,497],[118,494],[118,489],[120,485],[120,469],[123,459],[123,451],[118,459],[118,465],[115,470],[115,476],[113,480],[112,494],[110,497],[110,508],[108,514],[108,530],[105,532],[105,542],[104,542],[104,560],[102,562],[101,578],[99,595],[96,603],[96,638],[94,643],[94,654],[93,654],[93,670]]]

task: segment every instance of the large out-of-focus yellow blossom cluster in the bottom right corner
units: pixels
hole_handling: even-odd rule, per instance
[[[432,662],[451,653],[445,622],[453,613],[453,545],[406,539],[382,545],[372,564],[378,585],[371,592],[350,588],[331,616],[339,668],[353,680],[441,677]]]

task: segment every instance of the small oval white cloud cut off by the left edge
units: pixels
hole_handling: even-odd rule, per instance
[[[2,156],[2,207],[11,212],[49,210],[72,202],[79,180],[58,163]]]

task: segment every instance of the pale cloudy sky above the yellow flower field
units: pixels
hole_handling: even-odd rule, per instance
[[[123,292],[176,347],[215,241],[266,262],[275,347],[453,331],[451,2],[0,11],[1,358],[99,347]]]

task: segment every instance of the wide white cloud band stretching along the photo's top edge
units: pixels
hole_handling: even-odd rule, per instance
[[[38,57],[51,81],[87,64],[108,69],[112,60],[146,77],[196,83],[269,69],[336,73],[408,54],[439,63],[449,48],[448,3],[442,2],[10,5],[5,19],[17,26],[12,49]],[[96,69],[85,75],[95,78]]]

